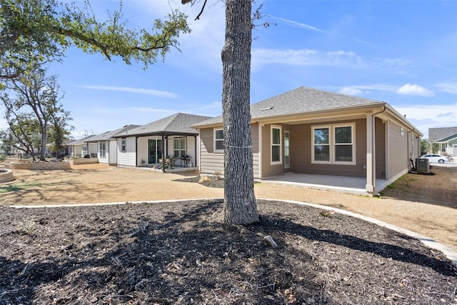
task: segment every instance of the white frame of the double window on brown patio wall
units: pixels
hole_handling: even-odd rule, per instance
[[[336,144],[335,129],[338,127],[351,127],[351,143],[349,144]],[[328,143],[330,145],[329,161],[316,161],[314,159],[314,130],[315,129],[328,129]],[[352,145],[352,161],[335,161],[335,146],[337,145]],[[338,165],[356,165],[356,124],[343,123],[343,124],[327,124],[319,126],[311,126],[311,164],[338,164]]]

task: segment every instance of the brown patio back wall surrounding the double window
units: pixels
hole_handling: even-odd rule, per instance
[[[313,164],[311,127],[326,124],[355,123],[355,165]],[[294,173],[326,174],[335,176],[366,176],[366,119],[328,121],[318,124],[291,126],[291,168]]]

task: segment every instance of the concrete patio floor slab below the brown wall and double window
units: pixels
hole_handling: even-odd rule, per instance
[[[366,191],[366,177],[331,176],[320,174],[294,174],[272,176],[258,180],[262,183],[289,184],[312,189],[341,191],[348,194],[373,196]],[[376,189],[386,188],[388,181],[376,179]]]

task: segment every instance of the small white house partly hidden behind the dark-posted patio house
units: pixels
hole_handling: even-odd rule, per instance
[[[116,165],[119,149],[117,147],[117,140],[114,136],[116,136],[116,134],[129,132],[129,130],[135,129],[136,127],[139,127],[139,125],[126,125],[114,131],[106,131],[103,134],[96,134],[95,136],[86,139],[86,143],[89,146],[96,146],[96,155],[94,156],[91,154],[91,157],[98,158],[99,163]]]

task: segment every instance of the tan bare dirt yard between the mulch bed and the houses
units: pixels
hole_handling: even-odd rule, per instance
[[[373,217],[435,239],[457,251],[457,168],[433,167],[434,176],[408,174],[383,198],[256,184],[258,199],[304,201]],[[166,199],[223,198],[224,189],[183,180],[189,174],[162,174],[103,164],[71,171],[14,170],[0,185],[1,205],[89,204]]]

